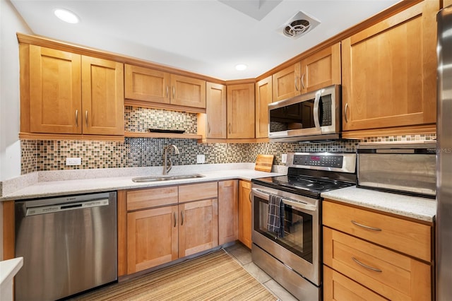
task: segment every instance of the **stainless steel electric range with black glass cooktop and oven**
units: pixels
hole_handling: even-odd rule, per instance
[[[299,300],[321,300],[321,192],[354,185],[356,153],[288,153],[287,175],[252,180],[254,263]],[[284,234],[268,230],[282,197]]]

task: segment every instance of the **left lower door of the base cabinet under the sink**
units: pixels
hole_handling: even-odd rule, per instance
[[[177,206],[127,213],[127,273],[177,259]]]

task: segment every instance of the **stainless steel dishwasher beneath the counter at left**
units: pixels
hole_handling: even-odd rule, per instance
[[[116,192],[16,201],[16,300],[57,300],[117,280]]]

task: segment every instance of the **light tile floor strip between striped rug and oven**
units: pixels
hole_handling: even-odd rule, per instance
[[[251,259],[251,251],[244,247],[243,244],[237,242],[230,247],[225,248],[226,252],[232,255],[240,264],[248,271],[251,276],[256,278],[257,281],[262,283],[273,295],[279,298],[280,301],[296,301],[297,298],[292,296],[287,290],[285,290],[279,283],[274,281],[264,271],[261,270]]]

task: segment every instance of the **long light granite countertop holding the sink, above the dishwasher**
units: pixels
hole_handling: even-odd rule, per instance
[[[274,170],[278,171],[278,167]],[[11,182],[4,182],[3,195],[0,201],[37,199],[49,196],[70,194],[88,194],[120,189],[136,189],[145,187],[161,187],[198,182],[220,181],[224,179],[251,180],[258,177],[272,177],[285,174],[283,172],[261,172],[254,170],[254,164],[220,164],[215,166],[194,165],[174,166],[169,175],[186,175],[198,173],[205,177],[191,179],[173,179],[159,182],[132,182],[133,177],[161,175],[161,167],[142,167],[132,169],[111,170],[78,170],[38,172]]]

